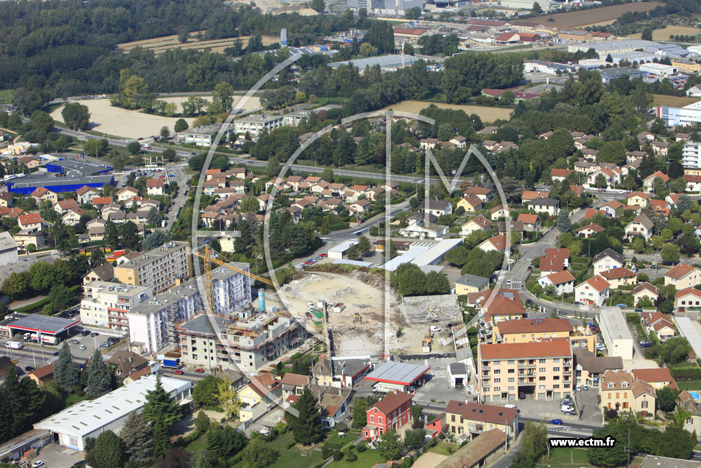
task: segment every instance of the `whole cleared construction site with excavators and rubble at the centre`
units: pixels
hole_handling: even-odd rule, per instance
[[[327,331],[339,357],[453,352],[449,324],[461,323],[456,296],[397,299],[394,290],[386,295],[383,276],[359,270],[304,274],[280,293],[308,330]]]

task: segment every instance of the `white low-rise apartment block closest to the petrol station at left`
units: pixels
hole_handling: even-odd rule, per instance
[[[81,322],[125,333],[129,330],[128,312],[154,297],[146,286],[131,286],[107,281],[90,281],[83,286]]]

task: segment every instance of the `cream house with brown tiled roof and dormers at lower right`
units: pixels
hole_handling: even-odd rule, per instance
[[[640,413],[643,417],[655,414],[657,393],[655,387],[637,380],[632,373],[624,370],[606,370],[601,376],[599,385],[599,400],[602,408],[633,414]]]

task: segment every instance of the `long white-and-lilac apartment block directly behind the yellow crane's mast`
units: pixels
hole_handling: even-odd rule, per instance
[[[235,265],[246,271],[249,268],[247,264]],[[226,316],[250,304],[250,278],[226,267],[218,267],[212,270],[212,292],[212,310],[217,315]],[[204,311],[204,300],[196,279],[155,295],[128,314],[132,349],[155,352],[175,345],[179,336],[177,327]]]

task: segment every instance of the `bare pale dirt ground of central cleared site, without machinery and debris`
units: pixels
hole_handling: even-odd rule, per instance
[[[388,342],[387,349],[390,353],[421,353],[421,340],[426,335],[428,325],[433,323],[430,322],[430,317],[440,316],[439,309],[443,314],[450,309],[442,303],[434,305],[434,300],[427,302],[415,298],[397,307],[394,295],[386,307],[384,279],[360,271],[349,275],[320,272],[306,274],[304,278],[287,284],[281,293],[280,296],[284,295],[292,315],[300,319],[308,311],[307,302],[316,304],[323,299],[327,303],[342,302],[345,305],[342,312],[329,309],[327,313],[336,356],[381,354],[385,352],[385,342]],[[456,302],[454,296],[450,297],[452,302]],[[429,307],[434,307],[435,312],[428,312]],[[362,323],[353,323],[354,312],[360,313]],[[440,319],[435,325],[445,330],[443,322]],[[397,338],[397,330],[400,328],[402,333]],[[439,335],[434,336],[432,351],[453,350],[451,342],[440,344],[440,339],[444,337]]]

